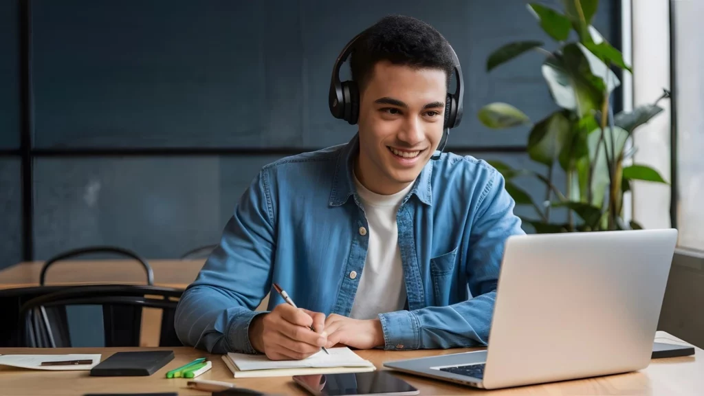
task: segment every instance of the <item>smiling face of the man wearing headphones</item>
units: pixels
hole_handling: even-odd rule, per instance
[[[394,194],[413,182],[443,133],[446,75],[379,62],[360,92],[360,156],[355,170],[367,189]]]

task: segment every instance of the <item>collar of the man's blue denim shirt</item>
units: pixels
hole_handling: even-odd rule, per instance
[[[354,160],[359,153],[359,135],[355,134],[340,151],[335,166],[334,178],[332,180],[332,189],[330,190],[330,206],[341,206],[349,197],[354,197],[355,202],[359,205],[359,197],[354,185]],[[408,199],[415,194],[420,202],[432,206],[432,187],[430,184],[433,172],[432,161],[428,161],[420,172],[420,175],[415,179],[413,188],[408,193],[408,196],[403,199],[406,203]]]

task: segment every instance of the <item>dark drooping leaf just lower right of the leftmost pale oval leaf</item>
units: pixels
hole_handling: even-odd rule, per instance
[[[528,137],[528,154],[533,161],[550,166],[560,154],[570,133],[570,121],[555,111],[533,126]]]

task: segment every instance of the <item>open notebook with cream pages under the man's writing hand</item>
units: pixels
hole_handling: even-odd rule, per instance
[[[270,360],[263,354],[222,355],[234,378],[305,376],[307,374],[361,373],[375,371],[371,361],[362,359],[348,347],[328,348],[302,360]]]

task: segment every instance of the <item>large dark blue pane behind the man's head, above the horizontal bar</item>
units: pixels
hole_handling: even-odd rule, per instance
[[[607,38],[616,1],[601,1],[594,22]],[[555,107],[536,52],[486,73],[487,56],[506,42],[551,42],[524,0],[438,7],[372,0],[37,0],[32,7],[37,147],[344,143],[356,127],[328,111],[332,64],[353,35],[392,12],[436,26],[460,57],[465,113],[451,145],[525,144],[527,128],[496,132],[479,123],[477,111],[491,101],[508,101],[535,120]]]

